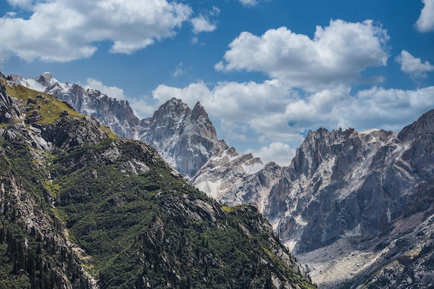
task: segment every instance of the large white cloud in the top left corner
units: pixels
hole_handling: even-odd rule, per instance
[[[28,19],[0,18],[0,51],[31,62],[68,62],[89,58],[97,43],[112,42],[112,53],[133,53],[155,41],[172,37],[191,17],[182,3],[134,1],[9,0],[31,6]]]

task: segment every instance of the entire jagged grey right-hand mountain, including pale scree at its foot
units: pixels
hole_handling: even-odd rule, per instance
[[[321,288],[433,281],[417,277],[432,254],[433,116],[399,133],[320,129],[297,150],[264,215]]]

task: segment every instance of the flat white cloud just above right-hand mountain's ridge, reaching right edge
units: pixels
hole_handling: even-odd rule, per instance
[[[290,103],[286,117],[295,128],[383,128],[398,131],[434,107],[434,87],[417,90],[372,87],[324,90]]]

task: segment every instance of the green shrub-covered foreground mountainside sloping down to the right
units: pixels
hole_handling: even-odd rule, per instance
[[[315,288],[145,143],[3,77],[0,120],[0,288]]]

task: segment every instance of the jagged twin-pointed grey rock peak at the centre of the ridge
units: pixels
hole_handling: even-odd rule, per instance
[[[227,149],[200,103],[191,110],[172,98],[148,119],[142,119],[138,138],[153,146],[173,168],[191,179],[208,159]]]

